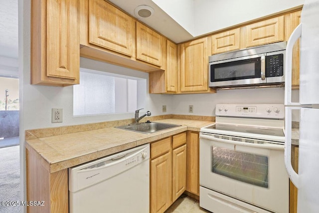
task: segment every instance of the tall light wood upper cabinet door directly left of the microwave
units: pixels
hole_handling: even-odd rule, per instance
[[[208,88],[208,38],[180,46],[180,91],[206,91]]]

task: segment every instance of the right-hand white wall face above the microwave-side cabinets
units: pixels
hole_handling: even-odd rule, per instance
[[[195,0],[194,36],[304,4],[305,0]]]

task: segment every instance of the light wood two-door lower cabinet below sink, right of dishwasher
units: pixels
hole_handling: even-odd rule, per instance
[[[151,213],[163,213],[186,189],[186,132],[151,144]]]

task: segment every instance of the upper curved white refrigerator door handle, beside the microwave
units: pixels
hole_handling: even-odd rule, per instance
[[[285,105],[300,105],[293,103],[292,96],[292,63],[293,63],[293,47],[297,40],[301,37],[302,24],[300,23],[291,34],[286,46],[285,59]]]

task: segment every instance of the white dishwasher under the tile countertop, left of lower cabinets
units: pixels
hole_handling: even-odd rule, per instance
[[[70,213],[149,213],[150,145],[69,168]]]

